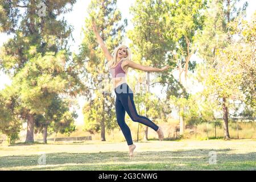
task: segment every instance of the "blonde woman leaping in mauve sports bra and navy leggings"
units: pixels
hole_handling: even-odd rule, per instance
[[[118,46],[114,49],[113,55],[111,55],[106,48],[100,34],[98,33],[95,22],[92,22],[92,29],[97,37],[97,42],[100,44],[102,51],[106,59],[108,60],[108,65],[110,67],[110,73],[113,77],[114,91],[116,94],[115,100],[115,112],[117,115],[117,122],[119,127],[121,127],[122,133],[125,136],[126,142],[129,146],[129,156],[133,157],[134,149],[136,148],[133,144],[133,139],[131,138],[131,131],[125,123],[125,112],[129,114],[130,118],[134,122],[142,123],[151,129],[155,130],[158,133],[159,140],[163,140],[163,130],[161,127],[155,125],[147,117],[143,117],[137,113],[134,100],[133,100],[133,91],[129,88],[126,83],[127,69],[139,69],[145,72],[162,72],[169,68],[165,66],[163,68],[153,68],[140,64],[136,64],[131,61],[131,52],[127,46]]]

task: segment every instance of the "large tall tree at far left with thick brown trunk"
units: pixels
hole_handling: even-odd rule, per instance
[[[55,94],[77,92],[79,79],[69,65],[72,28],[59,19],[75,2],[0,1],[0,30],[14,35],[3,44],[0,68],[18,93],[27,120],[26,142],[34,142],[35,114],[43,114]]]

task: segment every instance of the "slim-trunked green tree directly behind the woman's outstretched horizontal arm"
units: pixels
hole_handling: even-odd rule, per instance
[[[141,1],[138,0],[130,8],[133,14],[133,30],[127,33],[132,41],[133,60],[139,64],[161,67],[166,65],[164,55],[170,49],[171,39],[164,37],[166,32],[166,20],[164,13],[167,11],[164,1]],[[163,61],[159,61],[163,60]],[[166,75],[166,74],[164,74]],[[150,73],[147,72],[146,92],[150,92]],[[145,100],[145,103],[147,101]],[[146,110],[149,108],[146,107]],[[145,113],[148,117],[148,114]],[[147,140],[148,127],[144,129],[144,140]]]

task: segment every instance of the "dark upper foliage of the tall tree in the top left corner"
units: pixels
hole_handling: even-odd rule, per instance
[[[1,50],[3,71],[17,73],[35,52],[44,55],[66,49],[72,28],[66,20],[57,19],[57,16],[71,11],[75,2],[47,2],[46,16],[40,17],[36,7],[39,2],[1,1],[0,30],[14,35]],[[19,7],[20,4],[24,6]]]

